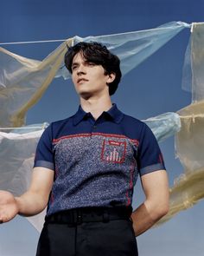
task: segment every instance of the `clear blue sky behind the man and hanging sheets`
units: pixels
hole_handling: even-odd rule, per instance
[[[171,21],[202,22],[204,1],[184,0],[7,0],[1,1],[0,42],[64,39],[75,35],[99,36],[146,30]],[[125,75],[112,102],[125,114],[145,119],[175,112],[191,102],[182,90],[182,64],[190,31],[183,30],[150,56],[137,69]],[[59,43],[5,46],[18,55],[43,59]],[[78,108],[71,81],[55,79],[34,108],[27,123],[65,118]],[[175,160],[174,138],[161,143],[170,186],[182,173]],[[133,206],[143,200],[140,182]],[[140,256],[203,256],[204,203],[179,213],[163,226],[137,238]],[[22,217],[0,226],[1,256],[33,256],[39,233]]]

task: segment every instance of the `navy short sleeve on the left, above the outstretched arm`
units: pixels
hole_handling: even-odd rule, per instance
[[[54,154],[52,145],[52,126],[49,125],[41,135],[38,142],[34,167],[47,167],[54,170]]]

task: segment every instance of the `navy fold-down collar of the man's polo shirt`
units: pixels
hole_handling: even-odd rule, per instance
[[[124,116],[124,114],[117,108],[117,105],[115,103],[112,104],[112,108],[110,108],[108,111],[104,111],[104,113],[105,115],[109,115],[112,118],[112,121],[115,121],[116,123],[119,123]],[[87,115],[90,114],[86,113],[80,106],[77,113],[73,115],[73,125],[77,125]]]

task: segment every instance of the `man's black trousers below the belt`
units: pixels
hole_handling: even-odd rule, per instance
[[[137,256],[131,220],[45,223],[36,256]]]

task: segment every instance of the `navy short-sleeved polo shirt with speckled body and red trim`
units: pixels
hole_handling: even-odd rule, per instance
[[[81,107],[41,135],[35,167],[54,170],[48,215],[77,207],[130,206],[137,175],[165,169],[150,128],[115,104],[95,121]]]

